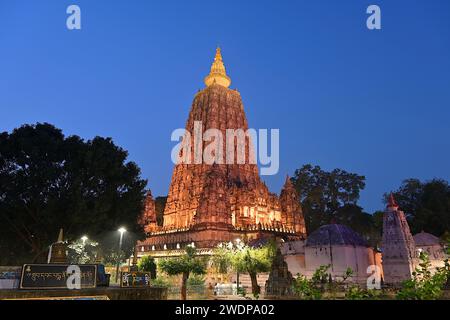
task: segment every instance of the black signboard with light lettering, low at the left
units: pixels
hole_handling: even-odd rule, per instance
[[[62,264],[26,264],[22,268],[20,289],[67,289],[67,281],[73,273],[71,265]],[[97,286],[97,266],[77,265],[80,268],[81,289]]]

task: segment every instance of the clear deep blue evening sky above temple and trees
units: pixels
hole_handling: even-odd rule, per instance
[[[81,31],[66,29],[70,4]],[[0,131],[112,137],[165,195],[170,134],[218,44],[250,126],[281,130],[272,191],[306,163],[342,168],[367,177],[374,211],[405,178],[450,179],[448,0],[0,0]]]

